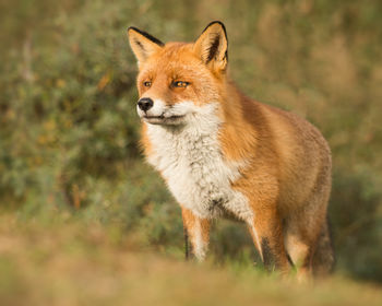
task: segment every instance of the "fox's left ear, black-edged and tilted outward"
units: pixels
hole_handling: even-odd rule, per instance
[[[128,34],[131,49],[133,50],[139,64],[144,62],[151,55],[165,45],[148,33],[140,31],[133,26],[129,27]]]

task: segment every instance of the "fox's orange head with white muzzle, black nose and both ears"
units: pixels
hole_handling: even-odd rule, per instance
[[[228,60],[223,23],[210,23],[201,36],[189,44],[165,45],[135,27],[128,32],[139,64],[136,109],[144,121],[186,123],[206,105],[219,101]]]

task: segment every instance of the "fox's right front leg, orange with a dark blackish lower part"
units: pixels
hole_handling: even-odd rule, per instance
[[[265,268],[268,271],[288,272],[290,264],[284,247],[282,220],[277,212],[270,208],[255,210],[248,226]]]

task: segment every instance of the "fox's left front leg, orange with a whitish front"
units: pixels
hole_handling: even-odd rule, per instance
[[[191,240],[192,254],[202,261],[210,242],[210,220],[196,216],[192,211],[182,208],[186,244]],[[186,248],[188,252],[188,248]],[[188,254],[186,254],[188,257]]]

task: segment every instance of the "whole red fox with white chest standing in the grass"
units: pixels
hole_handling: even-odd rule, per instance
[[[247,224],[267,269],[329,272],[332,162],[319,130],[237,89],[222,22],[194,43],[128,33],[144,154],[179,202],[196,259],[205,257],[211,221],[234,216]]]

